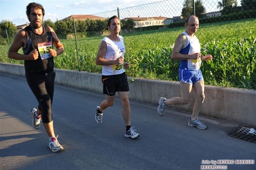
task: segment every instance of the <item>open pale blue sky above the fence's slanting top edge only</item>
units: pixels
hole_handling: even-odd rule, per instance
[[[160,1],[160,0],[158,0]],[[26,24],[26,6],[29,3],[40,3],[44,6],[44,20],[50,19],[55,22],[70,15],[90,15],[101,12],[127,8],[141,4],[157,2],[156,0],[1,0],[0,1],[0,22],[2,20],[12,21],[19,26]]]

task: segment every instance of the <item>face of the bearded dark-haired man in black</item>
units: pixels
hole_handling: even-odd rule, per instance
[[[28,16],[28,20],[30,20],[31,27],[33,28],[41,27],[43,19],[44,19],[44,16],[40,8],[31,8],[30,16]]]

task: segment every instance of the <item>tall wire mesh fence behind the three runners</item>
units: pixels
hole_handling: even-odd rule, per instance
[[[196,15],[200,20],[196,36],[201,53],[214,58],[201,65],[205,84],[256,89],[254,6],[256,0],[157,1],[92,15],[71,15],[55,23],[45,20],[44,24],[55,29],[65,47],[62,56],[55,59],[56,68],[101,72],[101,66],[95,64],[99,43],[109,34],[108,18],[117,15],[126,45],[125,60],[131,65],[126,73],[131,77],[178,81],[179,61],[171,59],[171,51],[176,37],[185,31],[184,20]],[[13,36],[2,29],[1,41],[6,45],[0,49],[8,50]],[[22,63],[2,58],[0,62]]]

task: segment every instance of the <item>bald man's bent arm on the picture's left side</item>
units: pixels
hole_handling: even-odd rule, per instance
[[[201,53],[194,54],[180,54],[180,50],[187,45],[187,37],[183,34],[179,35],[176,38],[175,46],[173,47],[173,51],[171,52],[171,59],[176,60],[185,60],[185,59],[198,59],[201,57]]]

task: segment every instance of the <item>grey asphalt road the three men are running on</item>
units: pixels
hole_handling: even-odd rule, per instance
[[[237,123],[200,116],[208,126],[200,130],[187,126],[190,114],[168,108],[161,117],[158,104],[131,100],[132,125],[141,137],[129,139],[118,97],[102,124],[94,120],[104,99],[101,93],[55,86],[55,134],[64,150],[52,153],[44,128],[31,125],[37,102],[26,79],[0,73],[0,169],[256,169],[256,144],[227,135]],[[228,161],[214,166],[214,160]]]

